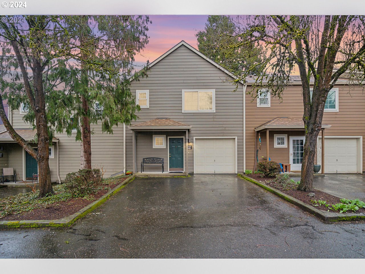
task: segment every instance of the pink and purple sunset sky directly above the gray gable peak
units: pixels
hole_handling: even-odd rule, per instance
[[[181,40],[197,47],[195,34],[203,30],[208,15],[150,15],[152,24],[147,32],[149,43],[142,54],[135,56],[137,65],[154,61]]]

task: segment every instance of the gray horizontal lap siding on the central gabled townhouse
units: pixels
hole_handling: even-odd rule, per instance
[[[226,73],[210,64],[185,46],[180,46],[155,64],[148,77],[132,82],[131,91],[149,90],[149,109],[137,113],[135,123],[154,118],[170,118],[192,126],[189,138],[200,136],[237,136],[238,172],[243,171],[243,85],[233,92],[232,83],[225,81]],[[182,113],[183,89],[215,89],[215,113]],[[165,132],[166,133],[166,132]],[[181,132],[185,136],[186,132]],[[132,132],[127,132],[127,167],[133,168]],[[137,168],[141,158],[151,155],[152,135],[146,145],[137,138]],[[167,139],[166,139],[167,142]],[[189,150],[189,172],[193,172],[193,152]],[[159,153],[155,153],[160,155]],[[146,156],[144,156],[146,155]],[[166,146],[167,156],[167,146]],[[166,158],[165,156],[165,158]],[[166,159],[165,159],[166,161]],[[166,168],[167,161],[165,163]],[[167,168],[166,168],[167,170]]]

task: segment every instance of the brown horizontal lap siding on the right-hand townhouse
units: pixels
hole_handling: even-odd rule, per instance
[[[324,130],[325,136],[364,136],[365,133],[365,96],[361,87],[349,87],[348,85],[336,85],[339,89],[339,111],[324,112],[323,124],[331,125],[331,128]],[[247,86],[246,93],[251,91]],[[303,97],[300,85],[288,87],[280,101],[271,98],[271,107],[257,107],[257,101],[249,94],[246,94],[246,166],[253,169],[255,161],[255,131],[254,128],[270,121],[276,117],[291,117],[303,119]],[[252,101],[252,102],[251,102]],[[280,103],[281,102],[281,103]],[[287,134],[285,131],[282,133]],[[266,132],[261,133],[261,140],[266,138]],[[270,138],[273,135],[270,134]],[[289,138],[289,136],[288,136]],[[288,139],[289,140],[289,139]],[[271,141],[270,141],[271,142]],[[272,140],[273,142],[273,140]],[[362,144],[363,153],[365,143]],[[271,148],[270,148],[271,151]],[[266,146],[261,153],[266,156]],[[285,154],[287,152],[285,151]],[[270,155],[271,152],[270,152]],[[273,158],[270,156],[273,160]],[[260,156],[259,156],[260,160]],[[316,161],[316,157],[315,157]],[[363,169],[365,168],[365,157],[363,157]],[[365,169],[364,169],[365,170]]]

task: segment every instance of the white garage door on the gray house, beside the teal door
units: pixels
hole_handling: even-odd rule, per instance
[[[235,138],[196,138],[195,173],[236,173]]]

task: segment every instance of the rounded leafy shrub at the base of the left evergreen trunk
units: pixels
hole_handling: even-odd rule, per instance
[[[95,187],[101,183],[103,175],[97,168],[84,169],[66,175],[68,190],[74,197],[85,196],[95,192]]]

